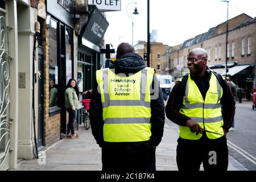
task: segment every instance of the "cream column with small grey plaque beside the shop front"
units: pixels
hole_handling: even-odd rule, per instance
[[[17,9],[19,73],[25,73],[26,75],[25,88],[19,88],[18,158],[33,159],[34,127],[32,122],[32,53],[34,46],[36,11],[32,7],[24,5],[18,5]],[[37,64],[38,61],[36,61],[35,65]],[[37,69],[35,69],[35,73],[36,70]],[[38,100],[36,89],[34,99],[35,101]],[[35,109],[37,107],[36,103]],[[35,110],[35,115],[37,115],[37,109]]]

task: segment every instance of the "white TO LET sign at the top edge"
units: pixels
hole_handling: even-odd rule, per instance
[[[88,5],[96,5],[102,11],[121,11],[121,0],[88,0]]]

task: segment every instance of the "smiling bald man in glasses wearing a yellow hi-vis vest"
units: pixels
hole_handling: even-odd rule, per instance
[[[166,105],[167,118],[180,130],[179,171],[199,171],[202,162],[205,171],[228,169],[226,133],[236,102],[224,78],[207,67],[207,57],[203,48],[189,52],[190,73],[177,81]]]

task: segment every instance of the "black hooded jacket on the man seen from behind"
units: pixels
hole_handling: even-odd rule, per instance
[[[137,53],[128,53],[123,55],[114,63],[110,64],[110,69],[115,69],[115,73],[137,73],[141,69],[146,68],[141,56]],[[157,79],[154,76],[154,79]],[[154,84],[154,80],[152,82]],[[156,100],[151,100],[151,138],[146,142],[104,142],[103,139],[103,117],[102,117],[102,102],[101,94],[97,90],[98,84],[94,86],[92,98],[90,101],[90,123],[92,126],[92,134],[97,143],[101,147],[102,144],[114,144],[125,146],[125,148],[142,147],[144,144],[152,144],[158,146],[163,137],[164,127],[164,103],[162,92],[159,88],[159,97]],[[158,86],[159,87],[159,86]],[[128,149],[129,150],[129,149]]]

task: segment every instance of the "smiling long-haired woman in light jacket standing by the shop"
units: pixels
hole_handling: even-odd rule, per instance
[[[76,110],[77,107],[79,107],[78,97],[79,90],[76,85],[76,80],[70,78],[65,90],[65,107],[68,111],[67,138],[79,137],[75,133]]]

